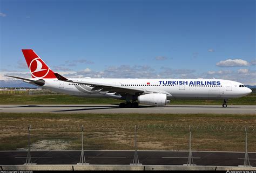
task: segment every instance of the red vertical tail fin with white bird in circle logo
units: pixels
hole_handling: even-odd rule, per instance
[[[22,52],[32,78],[56,78],[54,72],[32,49],[23,49]]]

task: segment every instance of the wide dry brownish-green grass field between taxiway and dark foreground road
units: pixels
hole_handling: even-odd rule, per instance
[[[0,150],[27,146],[31,124],[32,143],[41,140],[68,141],[69,150],[80,149],[84,125],[86,150],[133,150],[134,126],[139,150],[187,150],[188,127],[192,127],[192,150],[256,150],[256,115],[226,114],[51,114],[1,113]]]

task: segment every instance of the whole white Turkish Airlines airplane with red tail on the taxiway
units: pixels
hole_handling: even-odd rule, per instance
[[[172,99],[221,99],[223,107],[227,107],[228,99],[252,92],[240,82],[223,79],[68,79],[53,72],[33,50],[22,52],[32,78],[7,77],[68,95],[125,100],[119,104],[120,108],[136,108],[139,103],[165,106]]]

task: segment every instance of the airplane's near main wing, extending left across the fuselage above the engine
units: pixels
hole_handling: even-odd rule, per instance
[[[92,91],[99,90],[100,92],[115,93],[116,95],[125,95],[125,94],[140,95],[145,92],[145,89],[128,87],[128,86],[101,84],[96,82],[72,81],[72,80],[66,80],[66,82],[89,85],[90,87],[92,87]]]

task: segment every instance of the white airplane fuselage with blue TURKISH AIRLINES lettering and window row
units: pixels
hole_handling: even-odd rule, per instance
[[[124,96],[114,93],[91,91],[92,87],[83,84],[59,81],[58,79],[43,79],[42,88],[59,93],[91,97],[123,99]],[[240,82],[222,79],[70,79],[72,81],[98,82],[118,86],[145,89],[149,92],[164,91],[167,99],[229,99],[250,94],[251,89]]]

